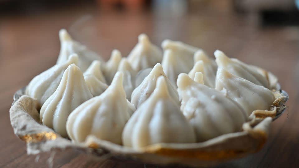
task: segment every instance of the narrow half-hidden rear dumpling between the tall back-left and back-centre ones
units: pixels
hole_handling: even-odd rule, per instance
[[[110,83],[112,82],[112,79],[117,72],[117,68],[120,62],[121,52],[117,49],[114,49],[111,53],[110,59],[101,67],[108,85],[110,85]]]

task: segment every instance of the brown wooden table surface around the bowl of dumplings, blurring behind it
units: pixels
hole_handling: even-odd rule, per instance
[[[83,16],[86,13],[94,17]],[[81,20],[71,26],[79,18]],[[272,123],[268,141],[261,151],[220,167],[299,165],[298,28],[259,27],[254,16],[218,9],[157,17],[151,13],[70,8],[0,18],[0,167],[144,167],[134,162],[100,161],[72,150],[28,156],[25,142],[13,134],[8,112],[12,95],[54,65],[59,53],[60,28],[69,29],[75,39],[105,59],[114,48],[126,56],[137,42],[137,35],[144,32],[155,44],[165,38],[182,40],[205,49],[211,56],[216,49],[221,49],[230,57],[273,72],[289,93],[288,112]],[[53,162],[49,159],[53,159],[51,156],[55,156]]]

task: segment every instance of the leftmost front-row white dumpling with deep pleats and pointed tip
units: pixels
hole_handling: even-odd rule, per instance
[[[65,123],[69,114],[86,100],[93,98],[83,73],[75,64],[64,71],[58,88],[40,109],[40,121],[62,137],[67,137]]]

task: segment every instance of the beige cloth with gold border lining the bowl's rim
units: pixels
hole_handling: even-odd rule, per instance
[[[73,148],[90,155],[133,160],[154,164],[180,164],[187,166],[213,166],[232,159],[242,158],[259,151],[265,144],[272,121],[285,110],[288,100],[285,91],[274,89],[276,100],[271,110],[255,110],[241,132],[228,133],[205,142],[190,144],[160,143],[135,150],[88,136],[83,143],[74,143],[41,124],[40,105],[24,95],[25,88],[14,95],[10,109],[14,133],[27,144],[28,154],[39,154],[57,149]]]

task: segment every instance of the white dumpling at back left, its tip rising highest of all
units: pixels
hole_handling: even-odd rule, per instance
[[[95,52],[88,49],[85,45],[74,41],[65,29],[59,31],[60,39],[60,53],[57,59],[57,64],[62,64],[69,59],[70,54],[78,54],[79,60],[77,66],[84,72],[93,60],[100,60],[102,58]]]

